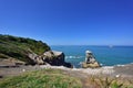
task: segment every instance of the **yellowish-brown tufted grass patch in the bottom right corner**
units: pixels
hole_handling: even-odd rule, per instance
[[[133,80],[92,76],[91,79],[88,79],[88,85],[93,86],[94,88],[133,88],[131,81]]]

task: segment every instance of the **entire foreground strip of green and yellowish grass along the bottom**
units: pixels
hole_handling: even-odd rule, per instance
[[[133,81],[129,79],[99,76],[82,79],[72,77],[72,74],[60,69],[40,69],[3,78],[0,88],[133,88]]]

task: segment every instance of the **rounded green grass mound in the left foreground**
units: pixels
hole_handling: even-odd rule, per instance
[[[59,69],[42,69],[0,81],[0,88],[81,88],[78,78],[63,75]]]

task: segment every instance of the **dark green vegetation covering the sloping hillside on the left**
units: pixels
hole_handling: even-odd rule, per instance
[[[0,58],[12,57],[31,63],[29,53],[41,55],[49,50],[50,47],[41,41],[0,34]]]

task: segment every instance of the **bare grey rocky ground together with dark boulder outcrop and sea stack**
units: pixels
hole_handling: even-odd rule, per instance
[[[48,51],[43,56],[30,55],[35,65],[23,65],[18,64],[20,61],[13,59],[0,59],[0,78],[7,76],[16,76],[29,70],[39,70],[39,69],[61,69],[69,73],[82,73],[81,77],[84,75],[89,76],[110,76],[110,77],[122,77],[122,78],[133,78],[133,64],[119,65],[119,66],[103,66],[94,58],[91,52],[86,53],[84,67],[83,68],[73,68],[70,63],[64,61],[64,54],[57,51]],[[96,64],[95,64],[96,63]]]

